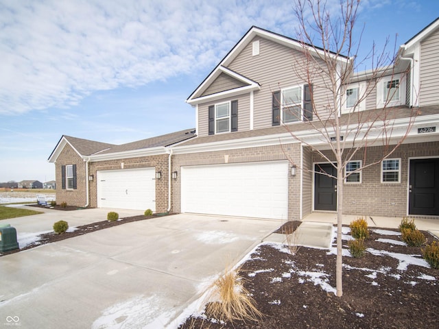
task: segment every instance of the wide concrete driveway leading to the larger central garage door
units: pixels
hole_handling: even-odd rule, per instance
[[[280,225],[180,214],[3,256],[0,325],[172,328],[219,273]]]

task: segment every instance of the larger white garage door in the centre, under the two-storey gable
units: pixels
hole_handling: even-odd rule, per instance
[[[181,168],[182,212],[287,219],[288,162]]]

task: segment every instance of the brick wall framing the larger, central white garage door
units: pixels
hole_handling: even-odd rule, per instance
[[[300,163],[300,144],[249,147],[226,151],[208,151],[194,154],[176,154],[172,158],[172,171],[178,172],[178,178],[172,180],[172,204],[175,212],[181,210],[181,167],[202,164],[225,164],[242,162],[261,162],[289,160]],[[300,173],[288,175],[288,219],[300,219]],[[287,220],[287,219],[285,219]]]

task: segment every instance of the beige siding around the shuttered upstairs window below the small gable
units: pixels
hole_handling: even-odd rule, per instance
[[[198,106],[198,136],[209,135],[209,106],[225,101],[238,101],[238,132],[250,130],[250,94],[229,97]]]

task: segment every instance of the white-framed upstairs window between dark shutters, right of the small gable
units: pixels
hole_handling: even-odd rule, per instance
[[[302,121],[302,86],[281,89],[281,120],[283,123]]]

